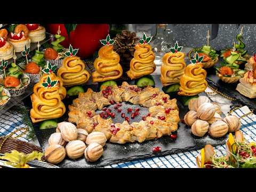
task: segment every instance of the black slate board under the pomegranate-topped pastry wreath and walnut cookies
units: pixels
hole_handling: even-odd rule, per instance
[[[159,80],[159,75],[154,76],[156,87],[162,88],[162,83]],[[118,84],[121,84],[122,82],[117,82]],[[133,82],[129,82],[132,84]],[[98,85],[85,85],[85,90],[91,87],[94,91],[98,90]],[[203,93],[202,93],[203,94]],[[177,97],[179,99],[179,97]],[[63,100],[66,106],[72,103],[74,98],[66,98]],[[29,99],[25,100],[25,105],[31,108],[31,101]],[[131,105],[130,103],[122,103],[122,108],[125,109],[127,107],[131,108],[140,108],[140,116],[136,117],[135,119],[130,119],[130,123],[133,121],[140,121],[141,117],[148,113],[147,108],[140,107],[138,105]],[[184,115],[188,111],[188,107],[183,106],[182,103],[178,100],[178,106],[179,106],[179,116],[180,119],[183,119]],[[109,107],[114,111],[114,106]],[[63,115],[61,118],[59,118],[59,122],[67,121],[68,111],[65,115]],[[100,111],[97,111],[97,114],[100,113]],[[113,119],[114,122],[123,122],[124,119],[121,118],[120,115],[116,112],[116,117]],[[55,129],[49,129],[49,130],[39,130],[38,124],[34,124],[34,129],[38,138],[38,141],[45,150],[45,148],[48,146],[47,141],[52,133],[55,132]],[[183,123],[179,123],[179,129],[177,131],[178,138],[177,140],[172,140],[169,136],[163,136],[159,139],[149,140],[142,143],[134,142],[134,143],[126,143],[125,145],[119,145],[116,143],[110,143],[107,142],[106,146],[104,147],[104,153],[102,157],[94,163],[88,163],[86,162],[84,156],[72,160],[68,157],[65,158],[64,161],[58,164],[60,167],[101,167],[106,166],[110,164],[115,163],[121,163],[126,161],[133,161],[148,157],[154,157],[154,156],[163,156],[163,155],[169,155],[174,153],[179,153],[182,151],[189,151],[189,150],[197,150],[203,148],[206,144],[211,144],[212,146],[217,145],[223,145],[227,139],[227,135],[222,138],[211,138],[209,135],[205,135],[202,138],[196,137],[193,134],[191,134],[191,131],[188,126],[186,126]],[[162,148],[161,153],[153,154],[152,148],[159,146]]]

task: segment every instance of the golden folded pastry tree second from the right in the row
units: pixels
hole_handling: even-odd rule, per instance
[[[186,63],[185,53],[166,53],[161,66],[161,81],[163,86],[180,83],[180,77],[184,74]]]

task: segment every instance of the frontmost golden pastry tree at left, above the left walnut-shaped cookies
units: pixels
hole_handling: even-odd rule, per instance
[[[30,99],[32,102],[30,117],[33,123],[59,118],[66,111],[65,105],[61,101],[58,86],[45,88],[40,81],[35,84],[34,93]]]

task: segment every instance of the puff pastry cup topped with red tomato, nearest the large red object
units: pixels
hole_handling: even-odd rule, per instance
[[[31,43],[37,43],[43,41],[46,37],[45,28],[40,24],[26,24],[29,33],[28,37],[31,39]]]

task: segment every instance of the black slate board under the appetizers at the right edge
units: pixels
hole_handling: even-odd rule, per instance
[[[217,66],[219,66],[219,63],[217,63]],[[241,69],[244,68],[243,66],[240,66]],[[237,84],[239,83],[225,83],[220,80],[220,78],[216,75],[215,69],[210,68],[207,69],[207,78],[206,81],[220,91],[221,93],[236,99],[235,101],[232,101],[233,103],[241,103],[243,106],[248,106],[250,109],[253,109],[256,111],[256,98],[255,99],[250,99],[245,97],[244,95],[240,94],[238,91],[236,91]]]

